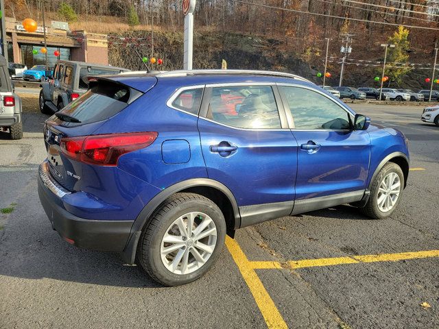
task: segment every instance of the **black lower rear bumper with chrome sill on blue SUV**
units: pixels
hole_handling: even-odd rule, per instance
[[[134,221],[103,221],[77,217],[63,206],[62,197],[68,193],[51,178],[47,162],[40,164],[38,195],[52,228],[76,247],[122,252]]]

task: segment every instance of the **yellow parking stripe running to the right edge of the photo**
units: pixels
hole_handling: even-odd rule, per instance
[[[305,260],[289,260],[279,262],[248,262],[252,269],[302,269],[305,267],[333,266],[357,263],[397,262],[399,260],[439,257],[439,250],[425,250],[421,252],[400,252],[398,254],[375,254],[351,257],[318,258]]]

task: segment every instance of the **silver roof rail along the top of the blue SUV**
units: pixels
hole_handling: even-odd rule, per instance
[[[178,71],[167,71],[158,73],[156,77],[181,77],[187,75],[210,75],[210,74],[248,74],[248,75],[269,75],[274,77],[289,77],[292,79],[310,82],[304,77],[300,77],[299,75],[295,75],[292,73],[283,73],[283,72],[275,72],[275,71],[257,71],[257,70],[178,70]],[[312,82],[311,82],[312,83]]]

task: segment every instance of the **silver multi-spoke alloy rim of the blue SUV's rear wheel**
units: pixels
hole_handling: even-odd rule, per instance
[[[217,243],[217,228],[203,212],[178,217],[161,241],[161,260],[174,274],[185,275],[200,269],[211,258]]]

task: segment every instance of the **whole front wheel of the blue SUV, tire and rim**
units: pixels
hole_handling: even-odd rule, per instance
[[[404,175],[401,167],[394,162],[386,163],[373,180],[368,203],[361,210],[373,219],[392,215],[401,201],[403,187]]]

